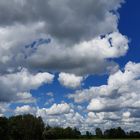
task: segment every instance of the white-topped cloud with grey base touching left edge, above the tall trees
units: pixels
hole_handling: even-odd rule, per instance
[[[51,83],[53,75],[47,72],[31,74],[27,69],[0,76],[1,102],[33,102],[30,90],[43,83]]]

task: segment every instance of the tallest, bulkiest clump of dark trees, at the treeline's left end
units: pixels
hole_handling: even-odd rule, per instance
[[[0,117],[0,140],[43,140],[44,127],[41,117],[32,115]]]

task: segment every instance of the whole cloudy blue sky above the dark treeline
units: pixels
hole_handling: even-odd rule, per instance
[[[139,130],[139,5],[0,0],[0,116]]]

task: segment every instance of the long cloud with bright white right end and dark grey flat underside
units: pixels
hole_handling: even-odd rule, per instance
[[[108,59],[124,56],[128,50],[128,39],[118,32],[97,37],[72,47],[49,44],[40,46],[28,57],[32,69],[74,73],[76,75],[99,74],[115,71],[117,65]]]

